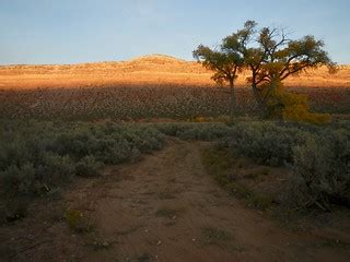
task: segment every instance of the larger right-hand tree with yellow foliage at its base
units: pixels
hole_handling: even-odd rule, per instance
[[[245,49],[245,61],[252,71],[248,81],[264,115],[285,120],[326,120],[325,115],[310,114],[306,97],[287,92],[282,84],[291,75],[322,66],[336,72],[324,43],[311,35],[292,40],[282,29],[269,27],[258,32],[256,43],[258,47]]]

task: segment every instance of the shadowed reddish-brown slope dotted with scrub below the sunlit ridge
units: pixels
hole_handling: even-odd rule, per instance
[[[350,88],[290,88],[306,94],[312,109],[350,114]],[[248,87],[237,88],[241,114],[254,111]],[[62,120],[187,120],[228,115],[229,90],[198,86],[125,86],[0,91],[0,118]]]

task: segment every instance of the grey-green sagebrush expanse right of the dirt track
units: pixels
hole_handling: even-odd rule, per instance
[[[259,163],[292,169],[284,203],[330,210],[350,205],[350,123],[241,122],[221,143]]]

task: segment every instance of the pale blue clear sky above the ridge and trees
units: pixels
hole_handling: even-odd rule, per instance
[[[192,60],[246,20],[312,34],[350,64],[349,0],[0,0],[0,64],[128,60],[164,53]]]

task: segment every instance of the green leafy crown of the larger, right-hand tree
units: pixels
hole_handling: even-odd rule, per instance
[[[336,71],[336,64],[324,50],[324,43],[314,36],[291,40],[283,29],[277,27],[264,27],[255,33],[258,46],[246,46],[244,49],[247,64],[253,71],[249,82],[255,87],[262,87],[264,91],[275,81],[283,81],[290,75],[320,66],[327,66],[330,72]]]

